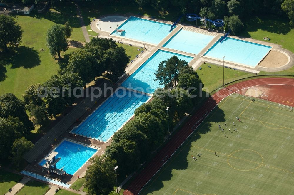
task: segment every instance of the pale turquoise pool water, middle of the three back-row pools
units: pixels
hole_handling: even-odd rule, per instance
[[[198,54],[213,38],[214,36],[181,29],[163,47]]]

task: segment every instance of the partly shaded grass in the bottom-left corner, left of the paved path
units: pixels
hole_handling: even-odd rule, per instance
[[[6,194],[21,178],[21,175],[0,169],[0,194]]]

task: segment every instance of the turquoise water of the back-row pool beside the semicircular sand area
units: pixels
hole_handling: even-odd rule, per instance
[[[226,37],[221,43],[219,43],[219,40],[203,56],[219,60],[223,60],[222,57],[225,56],[225,61],[240,63],[254,68],[271,49],[270,46],[230,37]]]

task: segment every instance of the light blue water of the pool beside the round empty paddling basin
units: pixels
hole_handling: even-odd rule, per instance
[[[169,34],[171,25],[131,16],[118,29],[125,31],[116,33],[115,30],[111,34],[157,45]]]

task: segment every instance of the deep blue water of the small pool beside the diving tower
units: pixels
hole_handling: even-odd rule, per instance
[[[54,151],[58,152],[56,157],[61,158],[56,164],[57,169],[64,167],[63,170],[66,171],[66,173],[73,175],[97,152],[97,149],[64,140],[54,149]],[[44,164],[45,160],[42,160],[39,163],[41,166]]]

